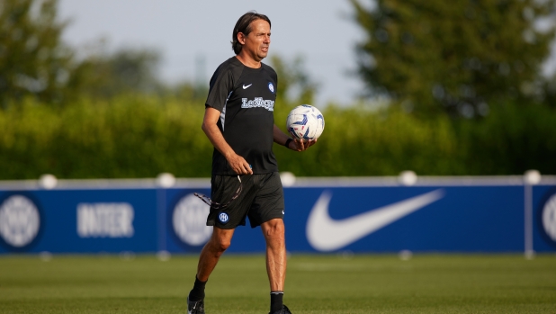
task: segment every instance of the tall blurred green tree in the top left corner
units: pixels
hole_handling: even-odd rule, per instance
[[[3,0],[0,4],[0,106],[33,95],[59,103],[71,51],[62,43],[66,22],[57,0]]]

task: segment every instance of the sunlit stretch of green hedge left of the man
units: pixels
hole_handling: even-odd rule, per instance
[[[27,102],[0,112],[2,179],[210,175],[202,104],[122,96],[64,109]]]

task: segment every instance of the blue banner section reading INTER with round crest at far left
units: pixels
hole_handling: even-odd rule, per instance
[[[155,190],[0,192],[0,253],[155,251]]]

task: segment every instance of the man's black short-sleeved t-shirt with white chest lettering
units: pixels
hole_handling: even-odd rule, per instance
[[[272,67],[246,67],[232,57],[211,77],[205,106],[220,111],[218,127],[229,146],[244,157],[254,174],[278,171],[273,153],[274,101],[278,77]],[[214,149],[212,175],[235,175],[226,158]]]

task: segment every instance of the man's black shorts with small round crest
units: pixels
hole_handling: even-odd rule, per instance
[[[275,218],[283,219],[283,190],[277,172],[263,175],[239,175],[242,189],[238,198],[229,200],[238,191],[238,175],[212,175],[211,199],[229,205],[222,209],[211,207],[207,226],[220,229],[235,229],[246,225],[249,218],[251,228]]]

